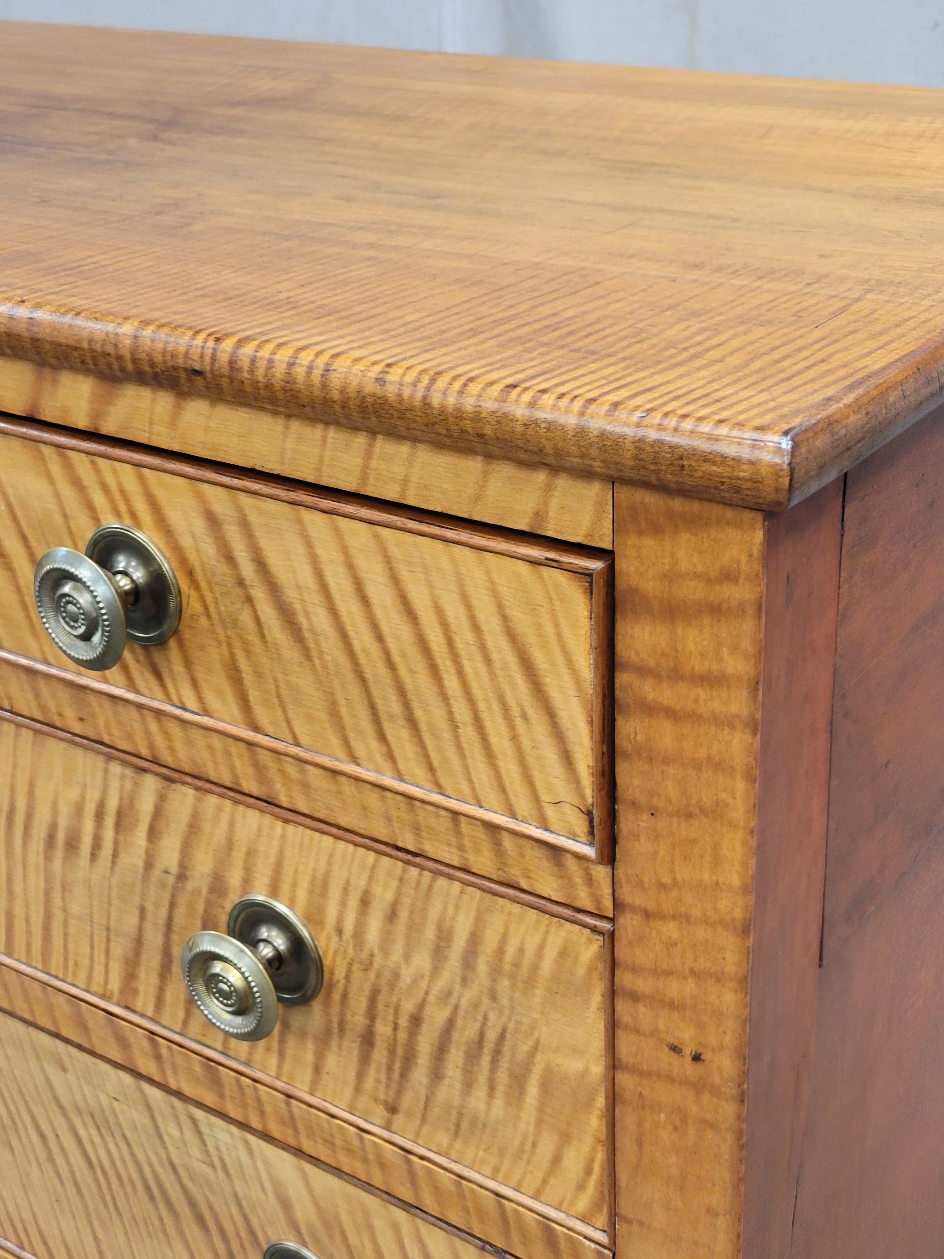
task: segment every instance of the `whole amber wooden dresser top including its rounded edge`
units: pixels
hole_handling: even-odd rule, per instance
[[[944,390],[944,92],[19,23],[0,82],[6,355],[775,510]]]

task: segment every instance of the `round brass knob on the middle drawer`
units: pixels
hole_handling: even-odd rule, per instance
[[[279,1002],[300,1006],[321,992],[321,952],[301,918],[269,896],[237,901],[227,932],[190,937],[180,957],[184,982],[214,1027],[237,1040],[264,1040]]]

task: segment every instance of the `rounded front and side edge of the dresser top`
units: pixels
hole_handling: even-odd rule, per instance
[[[944,355],[928,353],[783,433],[738,432],[699,417],[598,415],[569,399],[502,397],[497,385],[419,370],[404,388],[352,356],[3,298],[0,354],[254,407],[261,423],[266,410],[310,415],[761,511],[799,502],[944,400]]]

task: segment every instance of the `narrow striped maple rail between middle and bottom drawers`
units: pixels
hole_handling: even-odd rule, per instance
[[[536,1209],[507,1187],[475,1177],[420,1147],[398,1146],[374,1124],[325,1104],[312,1105],[297,1090],[224,1054],[6,957],[0,957],[0,1008],[449,1220],[501,1250],[553,1259],[604,1259],[609,1253],[585,1231],[573,1231],[575,1221],[563,1214]]]

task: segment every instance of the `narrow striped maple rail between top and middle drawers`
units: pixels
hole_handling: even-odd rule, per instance
[[[274,799],[297,815],[317,811],[320,825],[456,871],[467,870],[553,901],[613,917],[613,867],[583,860],[553,844],[522,842],[506,826],[473,812],[443,810],[425,793],[386,791],[335,773],[278,739],[233,738],[228,726],[199,713],[143,700],[94,675],[69,674],[0,648],[0,709],[44,725],[123,748],[145,762],[233,791]],[[402,847],[409,844],[409,850]]]

